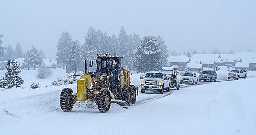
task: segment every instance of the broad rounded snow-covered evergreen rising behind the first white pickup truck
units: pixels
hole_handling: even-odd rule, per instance
[[[141,45],[136,52],[136,67],[137,72],[158,71],[163,65],[162,61],[163,50],[157,38],[151,36],[144,37]]]

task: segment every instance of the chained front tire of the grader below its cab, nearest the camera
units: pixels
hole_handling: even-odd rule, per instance
[[[100,112],[108,112],[111,105],[110,93],[106,89],[101,89],[97,95],[98,110]]]

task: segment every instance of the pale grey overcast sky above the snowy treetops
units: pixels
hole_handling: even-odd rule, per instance
[[[162,35],[178,53],[256,51],[256,0],[0,0],[3,46],[34,45],[53,58],[62,31],[83,43],[90,26],[109,35],[121,26],[141,38]]]

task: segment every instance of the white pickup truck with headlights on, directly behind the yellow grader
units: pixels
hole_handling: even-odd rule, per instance
[[[160,94],[164,93],[164,90],[169,91],[170,79],[167,78],[164,72],[151,71],[147,72],[145,77],[140,76],[141,80],[141,93],[149,91],[159,91]]]

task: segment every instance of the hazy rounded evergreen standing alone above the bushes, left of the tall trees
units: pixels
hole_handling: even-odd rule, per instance
[[[33,67],[34,67],[34,70],[35,70],[35,67],[36,67],[37,65],[42,64],[43,59],[42,59],[42,57],[39,55],[38,49],[36,49],[36,48],[32,45],[31,49],[26,52],[26,57],[25,57],[25,59],[24,59],[24,62],[25,62],[25,64],[26,64],[26,66],[28,66],[28,69],[29,69],[30,66],[33,66]]]

